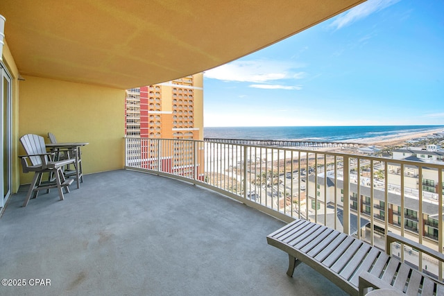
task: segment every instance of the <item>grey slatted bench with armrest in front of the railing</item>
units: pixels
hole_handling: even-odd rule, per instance
[[[443,254],[423,245],[395,234],[388,237],[388,246],[400,241],[444,261]],[[364,295],[367,288],[390,288],[407,295],[444,295],[442,283],[377,247],[323,225],[296,219],[266,238],[269,245],[289,254],[287,275],[290,277],[294,268],[303,262],[349,295]],[[390,252],[389,247],[386,250]]]

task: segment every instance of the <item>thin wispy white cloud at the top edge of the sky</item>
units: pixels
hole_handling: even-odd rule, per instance
[[[336,17],[330,26],[336,29],[343,28],[344,26],[348,26],[359,19],[368,17],[368,15],[371,15],[373,12],[383,10],[384,8],[387,8],[388,6],[391,6],[399,1],[400,0],[368,0],[362,4],[359,4],[359,6],[348,10],[342,15],[339,15],[339,17]]]

